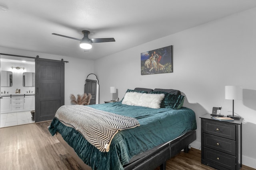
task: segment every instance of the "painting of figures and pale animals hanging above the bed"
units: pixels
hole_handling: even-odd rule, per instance
[[[141,75],[172,72],[172,45],[140,53]]]

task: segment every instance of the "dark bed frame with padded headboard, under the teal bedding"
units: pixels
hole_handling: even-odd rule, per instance
[[[147,88],[135,88],[134,90],[143,90],[147,92],[153,91]],[[154,91],[169,92],[171,94],[180,94],[179,90],[172,89],[155,89]],[[64,141],[60,133],[56,133],[57,139],[64,145],[72,157],[84,170],[91,170],[90,166],[86,165],[76,154],[74,149]],[[178,154],[182,149],[184,152],[189,151],[189,145],[196,140],[196,131],[190,131],[173,141],[158,145],[153,149],[147,150],[142,154],[134,156],[128,164],[124,165],[124,170],[154,170],[160,166],[161,170],[166,170],[166,161]]]

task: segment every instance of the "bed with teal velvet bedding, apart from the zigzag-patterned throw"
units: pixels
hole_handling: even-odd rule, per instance
[[[127,103],[128,94],[164,94],[160,108]],[[166,96],[175,96],[177,103],[162,107]],[[156,96],[156,95],[155,95]],[[160,96],[160,95],[158,95]],[[196,139],[194,111],[182,107],[184,96],[179,90],[135,88],[127,90],[122,102],[90,105],[93,109],[135,118],[140,126],[118,131],[111,140],[109,151],[101,152],[84,138],[81,132],[54,118],[49,131],[68,149],[84,169],[93,170],[154,170],[165,169],[166,160],[180,150],[188,152],[188,145]],[[148,98],[148,96],[146,96]],[[145,99],[147,100],[147,99]],[[137,101],[137,103],[139,103]],[[170,104],[170,103],[169,103]],[[154,104],[153,104],[154,105]],[[152,104],[150,105],[152,106]],[[177,109],[178,107],[178,109]]]

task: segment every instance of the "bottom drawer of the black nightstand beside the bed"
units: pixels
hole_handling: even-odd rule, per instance
[[[218,164],[224,168],[236,169],[236,157],[204,147],[204,160]]]

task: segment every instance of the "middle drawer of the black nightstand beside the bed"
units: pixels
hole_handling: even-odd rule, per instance
[[[204,133],[204,147],[236,156],[236,141]]]

